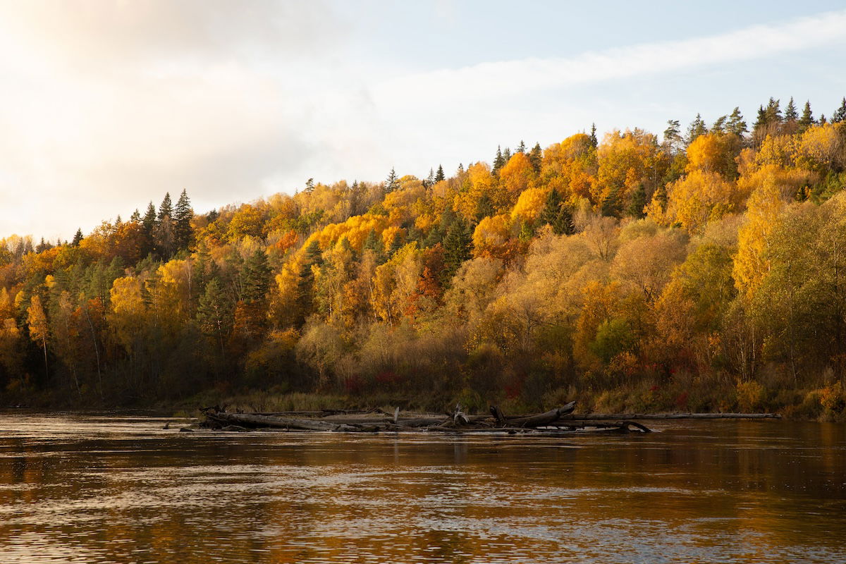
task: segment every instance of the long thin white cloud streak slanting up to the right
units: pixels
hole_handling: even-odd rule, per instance
[[[797,52],[846,41],[846,11],[795,19],[779,25],[755,25],[717,36],[660,41],[569,58],[527,58],[480,63],[464,68],[409,74],[376,89],[380,104],[415,100],[437,104],[524,96],[529,90],[560,89],[611,79],[735,63],[778,53]]]

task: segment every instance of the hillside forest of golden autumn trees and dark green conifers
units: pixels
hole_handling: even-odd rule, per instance
[[[593,128],[206,214],[183,190],[71,241],[0,238],[0,407],[842,418],[846,98],[751,122]]]

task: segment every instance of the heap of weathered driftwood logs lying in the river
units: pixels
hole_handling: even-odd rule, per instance
[[[491,413],[468,415],[460,405],[443,415],[401,417],[399,408],[394,413],[381,410],[370,412],[276,412],[230,413],[217,406],[203,408],[206,420],[201,426],[215,430],[311,430],[339,432],[432,432],[432,433],[508,433],[510,435],[560,434],[575,430],[601,430],[620,433],[651,432],[644,425],[628,418],[600,421],[574,419],[575,402],[544,413],[506,415],[497,406]]]

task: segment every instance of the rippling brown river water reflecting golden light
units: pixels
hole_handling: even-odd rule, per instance
[[[846,562],[846,425],[566,437],[0,415],[0,562]]]

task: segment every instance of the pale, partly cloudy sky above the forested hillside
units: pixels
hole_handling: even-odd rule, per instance
[[[0,0],[0,238],[846,96],[843,3],[695,4]]]

